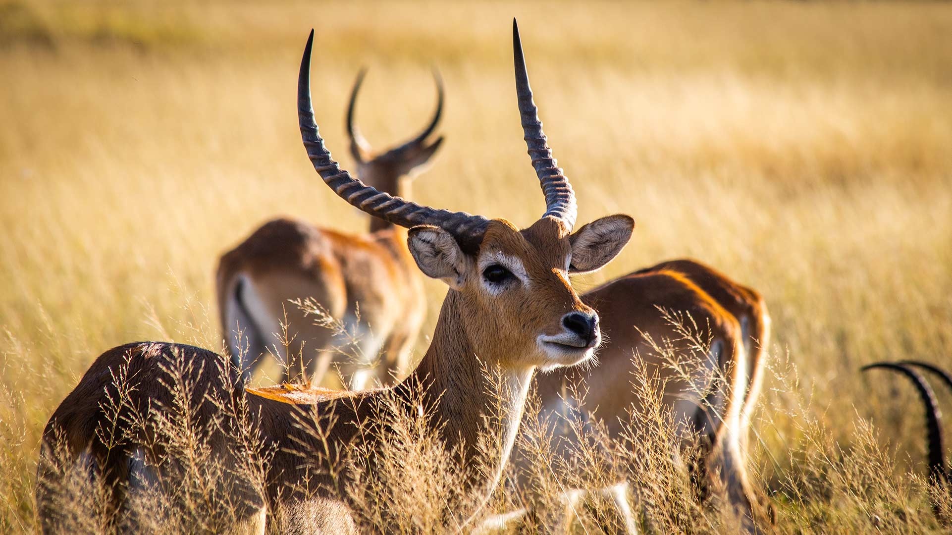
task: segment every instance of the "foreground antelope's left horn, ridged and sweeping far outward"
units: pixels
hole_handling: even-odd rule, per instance
[[[330,151],[314,121],[314,109],[310,99],[310,51],[314,44],[314,30],[310,30],[307,46],[301,58],[301,70],[298,73],[298,124],[301,127],[301,139],[307,149],[314,170],[321,175],[325,184],[352,206],[368,214],[379,217],[401,227],[433,225],[444,228],[452,234],[460,246],[467,252],[479,248],[483,233],[489,220],[483,216],[466,212],[452,212],[445,209],[430,208],[394,197],[389,193],[370,188],[360,180],[350,176],[333,160]]]

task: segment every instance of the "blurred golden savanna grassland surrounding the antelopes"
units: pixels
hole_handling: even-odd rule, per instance
[[[435,65],[446,143],[415,199],[517,225],[544,211],[513,16],[580,222],[638,222],[576,286],[690,256],[758,288],[774,336],[752,466],[778,527],[942,530],[913,389],[859,367],[952,366],[952,6],[8,0],[0,530],[35,528],[42,427],[99,353],[221,347],[216,259],[267,218],[366,228],[301,147],[311,27],[317,121],[345,167],[357,70],[360,125],[384,147],[425,124]],[[425,332],[445,286],[426,288]]]

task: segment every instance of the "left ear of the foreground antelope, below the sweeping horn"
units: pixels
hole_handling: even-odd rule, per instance
[[[429,225],[410,228],[407,247],[427,277],[440,279],[453,289],[461,289],[472,270],[472,259],[443,228]]]

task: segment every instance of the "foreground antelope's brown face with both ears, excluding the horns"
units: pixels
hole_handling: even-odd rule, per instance
[[[467,254],[440,228],[413,228],[409,248],[426,275],[460,292],[466,338],[477,356],[504,367],[571,366],[602,341],[598,314],[586,306],[568,274],[601,268],[625,246],[634,221],[610,216],[569,234],[544,217],[532,227],[491,221],[478,251]],[[573,260],[575,259],[575,260]]]

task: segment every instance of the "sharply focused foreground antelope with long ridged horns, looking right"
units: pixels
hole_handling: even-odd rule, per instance
[[[346,504],[339,501],[347,499],[340,498],[346,493],[330,492],[347,484],[347,474],[328,475],[334,466],[327,459],[342,458],[354,446],[371,452],[383,447],[387,421],[374,420],[375,415],[386,412],[389,403],[406,404],[400,409],[416,413],[418,406],[407,402],[414,397],[413,390],[422,390],[425,406],[432,407],[430,431],[442,433],[447,446],[460,451],[465,460],[478,454],[477,435],[483,430],[501,445],[495,469],[481,471],[467,482],[488,492],[498,484],[515,441],[535,370],[577,365],[599,345],[598,316],[572,288],[568,269],[601,268],[625,247],[634,221],[613,215],[572,232],[575,196],[555,166],[531,98],[520,94],[519,107],[545,192],[542,218],[520,230],[502,219],[417,205],[363,184],[332,160],[311,108],[313,37],[312,31],[298,82],[307,155],[325,183],[348,203],[409,228],[408,247],[417,266],[449,286],[430,347],[399,385],[358,392],[291,386],[255,390],[244,386],[234,367],[227,372],[217,367],[222,357],[196,347],[140,343],[110,349],[56,409],[45,430],[37,501],[48,530],[56,529],[59,520],[50,492],[61,473],[53,452],[66,449],[68,462],[102,473],[112,484],[116,510],[122,510],[129,493],[148,495],[179,483],[172,481],[175,466],[149,439],[159,434],[162,423],[185,413],[193,423],[208,424],[204,435],[208,451],[225,466],[253,464],[248,451],[253,441],[242,442],[248,437],[234,432],[247,421],[244,414],[259,430],[262,448],[273,456],[261,481],[243,478],[242,470],[230,470],[213,482],[211,490],[239,512],[240,525],[234,527],[263,532],[267,511],[284,531],[355,532]],[[497,371],[500,381],[486,378],[486,367]],[[110,386],[115,370],[120,368],[131,383],[124,389],[120,409],[125,417],[109,419],[104,410],[115,391]],[[195,384],[196,394],[184,400],[186,410],[175,411],[183,400],[174,399],[169,391],[167,385],[174,380],[169,368],[184,370],[186,377],[180,383]],[[237,400],[239,410],[222,410],[228,400]],[[487,425],[486,416],[494,410],[502,419],[492,423],[490,418]],[[144,417],[130,414],[134,411]],[[368,421],[375,425],[360,425]],[[319,430],[307,432],[312,426]],[[111,432],[100,432],[104,427]],[[109,436],[122,440],[113,443]]]

